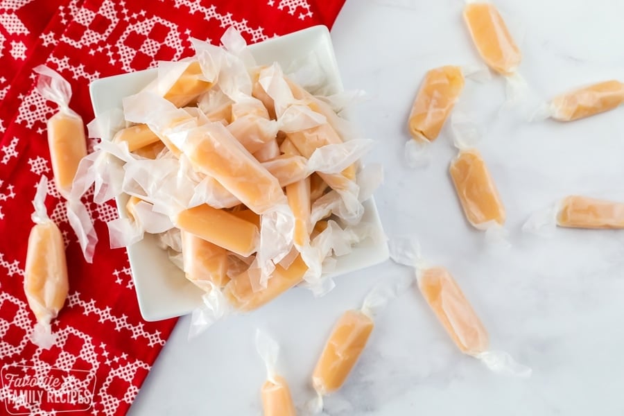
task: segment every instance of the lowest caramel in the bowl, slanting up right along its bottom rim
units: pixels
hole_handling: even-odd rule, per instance
[[[268,279],[266,288],[257,292],[253,290],[249,270],[246,270],[229,281],[225,286],[224,295],[230,304],[239,311],[252,311],[299,284],[303,280],[306,270],[308,267],[301,256],[297,256],[287,269],[277,264],[270,279]],[[259,282],[256,286],[260,286]]]

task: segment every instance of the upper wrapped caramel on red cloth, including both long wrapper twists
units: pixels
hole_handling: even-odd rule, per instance
[[[72,195],[72,184],[78,165],[87,156],[87,141],[83,119],[69,108],[71,85],[52,69],[40,65],[33,69],[40,76],[35,89],[41,96],[59,106],[47,123],[48,146],[54,182],[59,193],[67,200],[67,219],[83,250],[88,263],[92,263],[98,236],[93,227],[89,211],[80,202],[80,197]]]

